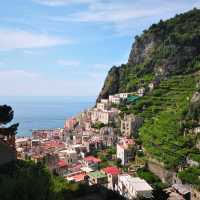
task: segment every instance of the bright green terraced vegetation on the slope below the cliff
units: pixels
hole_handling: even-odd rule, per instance
[[[163,81],[159,89],[145,97],[151,103],[138,113],[145,118],[140,129],[145,149],[149,156],[164,163],[167,168],[183,165],[191,151],[191,138],[184,137],[181,120],[189,106],[188,98],[195,91],[196,80],[198,76],[187,75]],[[155,97],[157,90],[160,97]],[[137,105],[133,108],[136,110]]]

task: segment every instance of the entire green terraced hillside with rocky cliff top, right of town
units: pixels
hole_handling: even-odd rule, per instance
[[[155,80],[159,84],[150,91]],[[139,140],[147,160],[177,172],[185,168],[180,178],[191,183],[190,177],[200,176],[200,10],[160,21],[137,36],[128,63],[111,68],[97,101],[141,87],[145,95],[121,105],[122,113],[144,118]],[[192,169],[188,160],[196,162]]]

